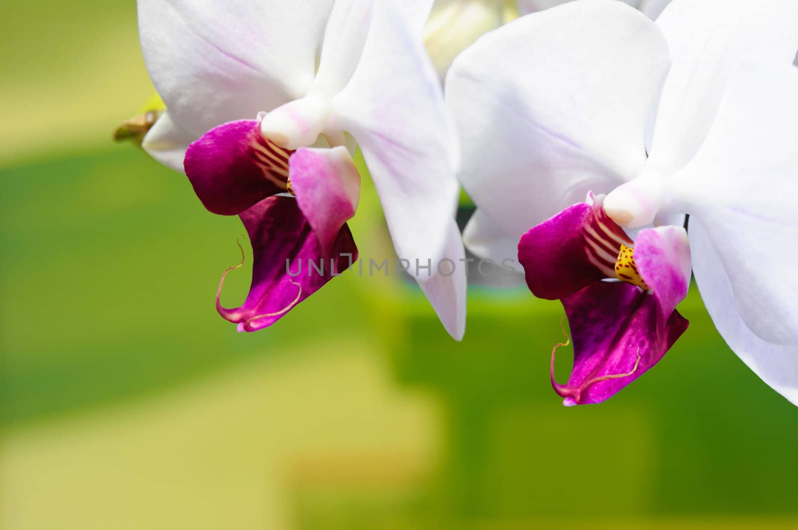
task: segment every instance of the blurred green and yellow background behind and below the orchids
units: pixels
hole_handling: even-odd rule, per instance
[[[238,220],[110,141],[152,93],[135,2],[3,13],[0,528],[798,528],[798,409],[697,292],[654,370],[571,409],[523,288],[472,287],[462,343],[351,274],[236,333]],[[368,181],[352,227],[389,255]]]

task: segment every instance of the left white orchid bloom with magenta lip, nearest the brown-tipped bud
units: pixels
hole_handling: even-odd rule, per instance
[[[235,309],[216,296],[239,330],[270,326],[357,257],[346,224],[360,189],[354,142],[397,255],[464,259],[455,134],[421,39],[431,6],[139,0],[144,60],[167,107],[143,147],[184,171],[207,210],[243,221],[254,254],[249,295]],[[465,275],[434,265],[410,272],[461,338]]]

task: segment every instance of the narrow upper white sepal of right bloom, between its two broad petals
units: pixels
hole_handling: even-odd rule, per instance
[[[798,2],[674,0],[657,25],[674,64],[662,90],[650,162],[674,172],[701,146],[741,56],[792,62],[798,50]]]

